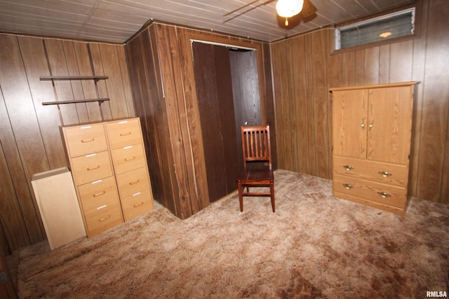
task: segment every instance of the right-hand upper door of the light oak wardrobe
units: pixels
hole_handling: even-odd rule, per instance
[[[407,164],[413,110],[410,86],[369,90],[367,158]]]

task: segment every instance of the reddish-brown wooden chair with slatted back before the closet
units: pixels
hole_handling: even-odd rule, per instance
[[[237,178],[240,211],[243,211],[243,196],[269,196],[272,198],[274,213],[274,175],[269,125],[242,126],[241,144],[243,148],[243,171]],[[260,188],[251,192],[250,187],[269,187],[269,192],[262,192]]]

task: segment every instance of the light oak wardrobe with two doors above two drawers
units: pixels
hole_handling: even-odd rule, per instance
[[[330,90],[335,197],[406,213],[414,85]]]

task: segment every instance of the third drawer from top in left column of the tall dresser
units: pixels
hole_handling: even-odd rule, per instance
[[[114,176],[78,186],[78,193],[85,211],[119,200]]]

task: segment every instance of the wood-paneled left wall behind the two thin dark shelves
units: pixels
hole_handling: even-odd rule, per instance
[[[93,81],[40,81],[40,76],[105,75]],[[56,99],[109,97],[105,120],[134,117],[123,45],[0,34],[0,245],[5,253],[39,242],[45,230],[33,174],[67,166],[65,125],[100,121],[97,102],[42,106]],[[60,117],[61,116],[61,117]]]

